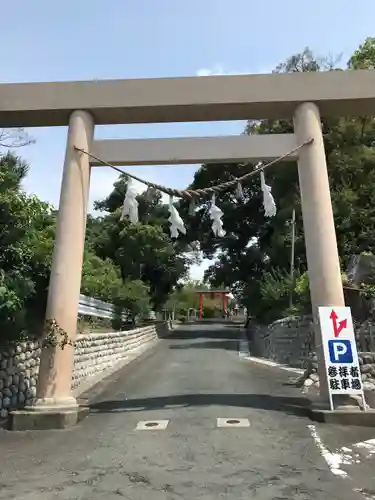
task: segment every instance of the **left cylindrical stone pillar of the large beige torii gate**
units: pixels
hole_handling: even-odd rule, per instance
[[[93,135],[92,116],[86,111],[74,111],[69,120],[46,311],[46,318],[55,320],[70,341],[75,340],[77,331],[90,185],[89,158],[74,146],[88,151]],[[58,413],[61,426],[64,418],[76,423],[78,405],[71,392],[73,358],[74,349],[70,345],[64,349],[59,346],[42,349],[37,396],[27,408],[34,413],[34,420],[38,413],[39,416]]]

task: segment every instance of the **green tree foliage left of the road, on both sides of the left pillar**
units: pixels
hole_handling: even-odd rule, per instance
[[[22,181],[28,165],[18,156],[0,156],[0,331],[2,340],[40,334],[45,314],[55,236],[56,212]],[[191,258],[187,243],[167,234],[168,212],[158,194],[141,195],[139,224],[120,221],[126,180],[89,216],[81,293],[130,312],[133,321],[161,307]]]

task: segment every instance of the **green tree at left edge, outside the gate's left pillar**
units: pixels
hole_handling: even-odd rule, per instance
[[[3,340],[40,326],[47,297],[54,222],[51,207],[27,196],[28,166],[0,157],[0,331]]]

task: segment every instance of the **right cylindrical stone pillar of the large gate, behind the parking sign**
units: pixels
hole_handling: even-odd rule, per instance
[[[320,395],[324,403],[328,404],[327,375],[318,307],[344,306],[345,300],[322,126],[316,104],[306,102],[297,107],[294,114],[294,131],[298,143],[313,139],[312,144],[300,150],[298,176],[315,326],[315,346],[318,355]]]

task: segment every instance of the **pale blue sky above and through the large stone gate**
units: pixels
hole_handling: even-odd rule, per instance
[[[375,36],[375,2],[361,0],[17,0],[4,2],[2,82],[267,73],[309,46],[350,54]],[[98,138],[230,135],[243,122],[97,127]],[[66,128],[32,129],[20,150],[26,189],[58,204]],[[136,167],[139,176],[186,187],[195,166]],[[91,203],[116,175],[95,169]],[[195,278],[203,268],[192,270]]]

